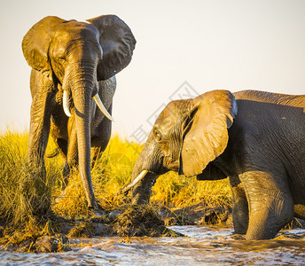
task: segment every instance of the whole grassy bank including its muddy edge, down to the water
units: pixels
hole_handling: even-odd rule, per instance
[[[113,137],[93,166],[94,191],[99,207],[106,212],[97,216],[87,207],[77,169],[72,171],[62,194],[63,159],[60,155],[46,158],[46,176],[39,176],[39,169],[27,164],[27,140],[27,133],[9,130],[0,137],[0,193],[3,195],[0,198],[0,244],[4,248],[42,252],[46,247],[39,246],[49,245],[46,250],[61,251],[66,248],[66,239],[74,236],[132,237],[132,230],[121,229],[126,224],[117,223],[118,217],[129,209],[128,198],[117,194],[129,184],[143,145]],[[54,151],[56,147],[50,138],[46,153],[54,154]],[[223,223],[230,209],[231,192],[226,180],[199,182],[170,172],[158,178],[152,188],[151,205],[142,212],[143,217],[151,215],[146,218],[152,225],[160,225],[159,232],[147,224],[142,235],[160,236],[167,232],[165,226],[173,224],[218,223],[218,216]],[[198,215],[190,215],[192,210]],[[127,220],[125,222],[129,223]],[[140,227],[136,220],[132,223]]]

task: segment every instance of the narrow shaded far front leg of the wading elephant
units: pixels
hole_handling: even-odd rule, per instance
[[[237,234],[246,234],[249,223],[249,209],[246,192],[239,181],[239,177],[230,177],[232,192],[232,215],[234,231]]]

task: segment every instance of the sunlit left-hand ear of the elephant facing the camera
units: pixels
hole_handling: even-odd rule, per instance
[[[48,51],[54,27],[66,20],[58,17],[45,17],[31,27],[23,37],[22,51],[27,64],[51,79],[51,65]]]

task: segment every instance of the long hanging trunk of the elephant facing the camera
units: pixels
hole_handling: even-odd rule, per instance
[[[91,181],[90,168],[90,105],[94,83],[87,81],[74,82],[71,86],[75,107],[79,170],[82,185],[88,200],[88,206],[98,208]]]

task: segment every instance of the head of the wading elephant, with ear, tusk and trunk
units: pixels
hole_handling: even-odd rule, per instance
[[[149,201],[152,184],[169,170],[200,175],[226,148],[237,114],[234,96],[214,90],[197,98],[172,101],[155,121],[132,173],[133,203]]]

